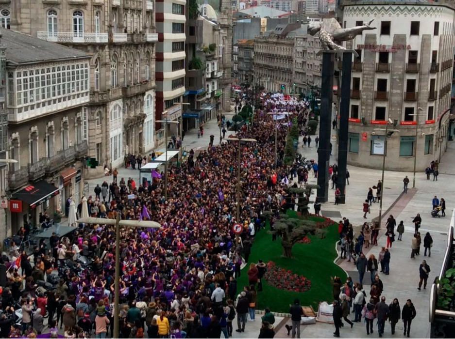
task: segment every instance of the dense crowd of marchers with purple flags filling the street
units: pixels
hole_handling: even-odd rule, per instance
[[[167,200],[165,173],[136,184],[131,178],[118,178],[116,170],[110,184],[97,185],[95,196],[87,199],[91,216],[116,218],[120,214],[122,219],[153,220],[162,225],[158,230],[120,230],[118,310],[113,304],[114,226],[84,225],[63,238],[52,234],[50,247],[42,241],[35,248],[33,262],[13,244],[1,307],[6,315],[20,303],[23,318],[21,328],[13,332],[0,326],[2,338],[40,334],[42,326],[34,324],[38,313],[49,315],[47,330],[51,332],[63,325],[67,338],[93,333],[97,338],[112,337],[114,312],[120,315],[120,338],[142,338],[144,332],[148,338],[219,338],[221,332],[228,338],[236,313],[236,331],[244,331],[247,317],[255,319],[255,302],[261,293],[260,278],[250,272],[256,265],[248,271],[252,274],[249,286],[237,287],[236,278],[241,267],[250,264],[254,234],[264,226],[263,212],[278,217],[286,194],[281,180],[289,172],[282,152],[286,128],[276,127],[267,114],[281,105],[281,99],[266,97],[250,128],[237,133],[256,143],[227,142],[199,154],[191,151],[185,163],[171,166]],[[300,122],[307,115],[305,105],[294,101],[286,111]],[[274,128],[278,128],[280,159],[276,168]],[[236,219],[237,147],[241,147],[240,220]],[[147,157],[130,154],[125,165],[135,169],[146,161]],[[128,199],[130,194],[135,199]],[[235,223],[245,225],[238,236],[232,230]],[[92,259],[91,263],[78,262],[80,255]],[[261,266],[257,265],[259,271]],[[57,277],[55,290],[39,292],[37,282],[49,281],[50,276]],[[271,338],[273,324],[270,320],[264,324],[261,333]]]

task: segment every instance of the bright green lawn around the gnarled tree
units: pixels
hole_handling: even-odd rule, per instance
[[[288,214],[292,216],[292,212],[288,211]],[[315,221],[322,220],[321,218],[312,219]],[[330,277],[334,275],[346,277],[344,271],[333,262],[337,257],[335,243],[339,239],[337,225],[334,224],[326,229],[327,233],[324,239],[315,235],[310,236],[311,244],[296,244],[292,248],[293,259],[281,257],[281,238],[272,241],[272,236],[267,233],[267,230],[269,230],[269,226],[266,227],[266,230],[256,233],[249,263],[256,263],[259,259],[265,263],[273,261],[279,267],[310,279],[311,288],[304,293],[290,292],[272,287],[263,280],[263,292],[258,293],[257,309],[270,307],[274,312],[287,313],[289,312],[289,304],[292,304],[295,298],[299,298],[301,305],[311,305],[316,310],[320,301],[332,301]],[[248,284],[248,267],[249,264],[245,266],[241,276],[237,279],[237,291],[243,290],[243,287]]]

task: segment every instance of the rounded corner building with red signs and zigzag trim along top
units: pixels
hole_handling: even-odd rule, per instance
[[[348,48],[351,82],[348,163],[424,170],[444,152],[451,108],[454,8],[447,1],[379,4],[343,1],[345,27],[374,19]],[[391,136],[384,125],[394,122]]]

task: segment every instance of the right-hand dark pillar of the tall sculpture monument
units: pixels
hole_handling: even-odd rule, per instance
[[[339,106],[340,121],[338,124],[338,178],[337,185],[341,191],[340,203],[346,203],[346,166],[348,162],[348,119],[351,97],[352,52],[343,53],[341,74],[341,102]]]

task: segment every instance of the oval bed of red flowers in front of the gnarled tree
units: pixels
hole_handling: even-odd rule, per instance
[[[267,263],[266,281],[273,287],[292,292],[306,292],[311,288],[311,281],[306,277],[292,273],[276,266],[274,262]]]

